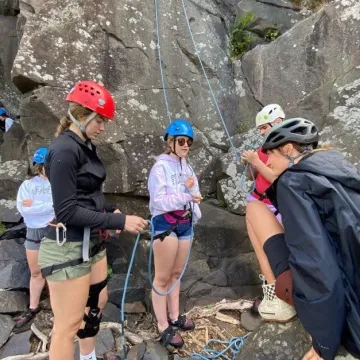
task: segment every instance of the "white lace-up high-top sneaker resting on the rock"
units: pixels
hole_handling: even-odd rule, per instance
[[[259,314],[264,320],[287,322],[296,316],[296,310],[293,306],[279,299],[275,295],[275,283],[267,284],[264,275],[260,274],[263,281],[264,299],[259,305]]]

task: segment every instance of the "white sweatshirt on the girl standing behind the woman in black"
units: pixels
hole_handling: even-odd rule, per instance
[[[24,206],[23,200],[31,199],[31,206]],[[16,207],[24,218],[28,228],[40,229],[55,217],[51,186],[48,179],[35,176],[25,180],[18,191]]]

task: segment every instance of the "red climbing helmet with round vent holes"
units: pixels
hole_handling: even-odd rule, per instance
[[[94,81],[84,80],[76,83],[67,94],[66,100],[114,120],[114,99],[108,90]]]

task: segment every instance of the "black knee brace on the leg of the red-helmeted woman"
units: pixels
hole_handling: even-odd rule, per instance
[[[85,327],[83,329],[79,329],[77,332],[77,336],[79,339],[85,339],[89,337],[94,337],[100,330],[100,321],[102,314],[99,309],[99,295],[101,290],[106,286],[107,279],[104,281],[93,284],[89,289],[89,297],[86,303],[87,307],[90,307],[89,313],[84,315]]]

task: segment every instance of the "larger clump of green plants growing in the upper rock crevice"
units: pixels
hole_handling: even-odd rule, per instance
[[[250,48],[254,36],[247,33],[249,24],[254,20],[253,13],[247,13],[239,19],[238,23],[233,27],[230,37],[230,56],[234,61],[244,55]]]

